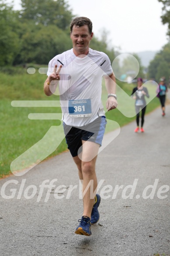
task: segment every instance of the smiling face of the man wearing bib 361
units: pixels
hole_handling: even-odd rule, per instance
[[[89,33],[88,25],[83,25],[78,28],[74,25],[71,32],[74,54],[87,54],[92,36],[93,33]]]

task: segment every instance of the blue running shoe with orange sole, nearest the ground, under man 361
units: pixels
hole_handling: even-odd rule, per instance
[[[80,220],[78,220],[78,222],[80,222],[79,226],[76,228],[75,230],[75,234],[84,234],[84,235],[91,235],[92,231],[91,231],[91,222],[90,222],[90,218],[87,216],[82,216]]]

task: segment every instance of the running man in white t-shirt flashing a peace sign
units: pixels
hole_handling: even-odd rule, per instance
[[[100,195],[96,194],[96,159],[102,145],[106,117],[103,109],[102,78],[105,79],[108,111],[117,107],[115,76],[108,56],[89,48],[93,37],[92,22],[86,17],[74,18],[70,25],[73,48],[55,56],[49,62],[44,92],[52,95],[57,85],[60,91],[62,120],[68,149],[78,168],[83,191],[83,215],[76,234],[91,235],[91,224],[99,220]]]

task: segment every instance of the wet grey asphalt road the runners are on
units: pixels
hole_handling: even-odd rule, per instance
[[[145,116],[145,133],[135,127],[122,127],[98,155],[102,199],[90,237],[74,234],[82,199],[68,151],[0,180],[0,256],[170,255],[170,105],[164,117],[160,108]]]

